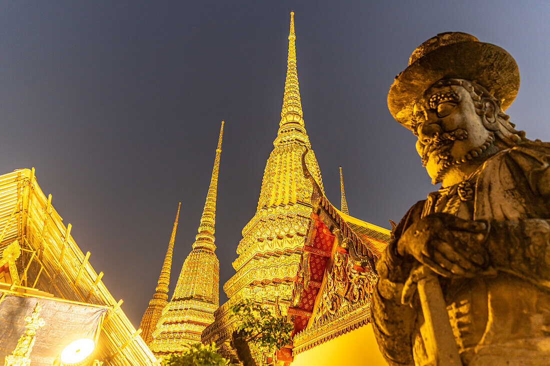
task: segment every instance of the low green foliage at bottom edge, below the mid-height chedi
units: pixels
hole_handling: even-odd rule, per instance
[[[210,345],[193,343],[181,354],[171,353],[164,357],[162,366],[228,366],[229,360],[216,351],[216,343]]]

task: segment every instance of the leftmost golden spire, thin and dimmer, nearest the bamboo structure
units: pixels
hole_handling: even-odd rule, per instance
[[[166,306],[166,300],[168,299],[168,285],[170,284],[170,269],[172,267],[172,252],[174,250],[175,231],[178,228],[179,209],[182,207],[182,202],[178,204],[178,213],[175,215],[174,227],[172,228],[172,235],[168,242],[168,250],[166,251],[166,257],[164,257],[164,263],[161,269],[161,275],[158,277],[157,287],[155,289],[155,295],[149,301],[149,307],[145,310],[143,318],[141,318],[141,337],[147,345],[152,340],[152,332],[155,331],[158,320],[161,318],[162,309]]]

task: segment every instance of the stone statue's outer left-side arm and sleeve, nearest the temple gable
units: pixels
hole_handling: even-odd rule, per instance
[[[414,219],[420,219],[423,201],[413,206],[395,228],[392,241],[376,263],[378,282],[372,293],[371,320],[378,347],[392,366],[414,365],[412,333],[416,310],[401,304],[401,290],[413,263],[397,253],[397,241]]]

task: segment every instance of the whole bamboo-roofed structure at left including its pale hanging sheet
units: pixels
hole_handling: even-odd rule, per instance
[[[52,207],[52,196],[42,193],[34,168],[0,175],[0,360],[15,353],[26,334],[21,319],[39,303],[37,317],[46,328],[36,329],[29,354],[33,365],[51,366],[59,347],[82,337],[96,342],[96,364],[157,364],[120,308],[122,300],[114,300],[103,273],[88,262],[90,252],[80,250],[70,230]],[[42,337],[48,326],[55,331]]]

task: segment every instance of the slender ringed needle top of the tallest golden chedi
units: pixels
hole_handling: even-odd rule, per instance
[[[292,124],[300,127],[303,132],[304,118],[302,114],[302,102],[300,100],[300,89],[298,86],[298,71],[296,70],[296,36],[294,34],[294,12],[290,12],[290,33],[288,35],[288,64],[287,80],[284,83],[283,108],[281,110],[281,122],[279,133],[283,125]],[[290,127],[290,126],[289,126]]]

